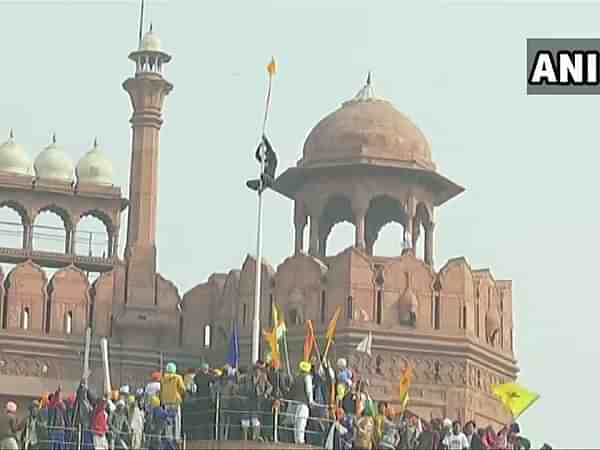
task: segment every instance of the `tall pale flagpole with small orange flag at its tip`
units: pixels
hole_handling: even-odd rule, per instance
[[[259,360],[260,349],[260,293],[261,293],[261,272],[262,272],[262,219],[263,219],[263,201],[262,193],[265,189],[263,185],[263,174],[265,171],[265,144],[264,135],[267,128],[267,119],[269,117],[269,107],[271,105],[271,88],[273,85],[273,75],[275,74],[275,58],[267,66],[269,73],[269,87],[267,91],[267,99],[265,103],[265,115],[263,118],[261,143],[259,147],[260,153],[260,172],[258,174],[258,223],[256,231],[256,283],[254,289],[254,318],[252,321],[252,364]]]

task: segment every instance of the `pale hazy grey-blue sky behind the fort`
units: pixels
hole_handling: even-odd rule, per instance
[[[525,433],[535,445],[598,445],[599,99],[524,92],[526,38],[597,38],[600,5],[148,3],[175,85],[161,137],[159,269],[182,294],[255,251],[256,202],[244,181],[256,172],[270,56],[279,73],[269,135],[281,168],[373,70],[377,95],[421,127],[439,170],[467,188],[437,212],[436,266],[464,255],[514,280],[520,381],[542,394],[521,420]],[[0,0],[0,19],[0,130],[14,127],[32,156],[56,130],[74,160],[97,135],[126,194],[121,83],[134,69],[137,2]],[[388,230],[379,248],[399,239]],[[331,246],[350,241],[346,229]],[[264,253],[278,264],[292,250],[292,204],[269,193]]]

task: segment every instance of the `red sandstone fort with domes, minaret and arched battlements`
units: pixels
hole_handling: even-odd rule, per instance
[[[163,71],[171,56],[151,31],[129,58],[135,64],[123,83],[133,108],[129,199],[113,185],[111,162],[98,145],[76,166],[56,139],[33,163],[12,133],[0,145],[0,207],[14,210],[22,224],[22,244],[0,248],[0,262],[14,265],[0,271],[0,397],[74,387],[88,326],[94,342],[110,339],[115,384],[147,381],[161,354],[180,367],[201,358],[222,364],[233,320],[242,359],[250,358],[252,257],[183,296],[156,272],[159,136],[173,89]],[[440,174],[416,125],[367,85],[312,129],[300,160],[274,189],[294,202],[295,252],[277,268],[262,265],[261,320],[268,326],[273,303],[281,305],[292,363],[302,353],[304,321],[312,319],[322,334],[341,305],[333,356],[349,357],[375,399],[396,400],[400,373],[410,365],[414,412],[505,423],[490,385],[518,372],[511,281],[463,257],[434,270],[435,210],[463,188]],[[126,208],[126,245],[119,249]],[[64,251],[34,245],[36,220],[47,211],[62,220]],[[79,223],[88,216],[106,228],[100,256],[75,251]],[[332,227],[344,221],[355,226],[354,245],[325,256]],[[390,222],[402,225],[398,240],[408,245],[396,257],[374,256],[378,233]],[[416,254],[419,247],[423,254]],[[49,278],[44,268],[59,270]],[[87,272],[100,275],[90,284]],[[372,356],[353,351],[368,331]],[[99,385],[94,349],[92,383]]]

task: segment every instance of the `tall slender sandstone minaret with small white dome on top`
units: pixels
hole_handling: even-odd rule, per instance
[[[129,55],[135,76],[123,83],[131,98],[131,169],[129,175],[129,220],[127,224],[126,303],[156,304],[156,209],[158,197],[158,149],[163,123],[162,107],[173,85],[162,70],[171,56],[161,50],[152,31],[141,39],[139,49]]]

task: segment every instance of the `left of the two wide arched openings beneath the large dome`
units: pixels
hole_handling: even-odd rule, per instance
[[[332,233],[335,228],[335,233]],[[342,195],[330,198],[319,221],[319,253],[331,256],[355,243],[354,214],[350,199]],[[331,238],[331,239],[330,239]]]

